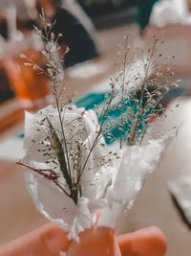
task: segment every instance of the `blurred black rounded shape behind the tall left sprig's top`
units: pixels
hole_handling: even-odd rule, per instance
[[[98,56],[93,37],[72,12],[63,8],[62,0],[37,0],[37,4],[52,22],[56,20],[53,33],[63,35],[58,43],[70,49],[65,57],[66,67]]]

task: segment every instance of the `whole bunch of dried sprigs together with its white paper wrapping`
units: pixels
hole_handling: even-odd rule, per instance
[[[44,33],[36,31],[45,44],[42,54],[47,68],[22,58],[50,78],[54,101],[35,113],[26,112],[26,155],[19,164],[29,170],[26,180],[37,209],[74,238],[95,224],[99,208],[102,215],[97,224],[114,226],[136,198],[144,176],[158,165],[169,135],[146,137],[151,119],[164,110],[160,100],[173,86],[172,66],[163,60],[159,63],[157,37],[146,58],[139,63],[134,58],[129,64],[126,37],[122,69],[111,79],[104,105],[96,111],[76,107],[59,68],[61,35],[53,35],[53,24],[46,23],[44,14],[40,17]],[[105,138],[112,141],[116,131],[119,140],[111,148]]]

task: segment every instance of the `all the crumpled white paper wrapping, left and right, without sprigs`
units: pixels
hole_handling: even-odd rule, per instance
[[[64,117],[66,136],[71,136],[71,124],[75,124],[76,121],[73,135],[78,137],[80,128],[77,126],[77,118],[81,117],[82,111],[84,109],[75,106],[72,110],[66,109]],[[22,162],[35,169],[54,168],[55,172],[60,175],[58,166],[47,162],[50,156],[44,155],[45,146],[36,143],[41,142],[47,136],[48,122],[44,121],[39,126],[47,116],[57,136],[61,138],[58,115],[53,106],[48,106],[35,114],[27,112],[24,141],[26,154]],[[85,111],[83,119],[87,132],[81,139],[88,146],[88,153],[96,136],[98,126],[96,113],[92,110]],[[75,121],[71,123],[73,120]],[[32,140],[35,143],[32,143]],[[27,188],[38,211],[50,221],[69,231],[71,239],[76,239],[79,232],[95,224],[96,211],[100,208],[103,210],[98,224],[115,226],[117,218],[137,197],[145,175],[152,173],[157,167],[161,152],[168,144],[168,137],[151,140],[143,146],[127,147],[118,152],[121,158],[107,165],[97,165],[96,159],[111,151],[110,148],[102,146],[102,143],[104,143],[103,140],[97,144],[81,177],[82,195],[77,204],[56,187],[53,181],[46,180],[32,171],[25,171]],[[39,148],[41,151],[38,151]],[[62,185],[65,184],[63,175],[59,176],[59,182]]]

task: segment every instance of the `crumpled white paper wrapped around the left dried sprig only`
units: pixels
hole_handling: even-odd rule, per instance
[[[84,111],[83,108],[76,108],[75,106],[73,106],[73,110],[67,109],[65,111],[64,125],[67,137],[71,135],[71,121],[80,116],[82,111]],[[49,129],[48,123],[44,122],[43,125],[39,126],[39,123],[46,116],[49,117],[49,120],[57,131],[57,136],[60,138],[58,115],[53,106],[48,106],[35,114],[26,112],[24,140],[24,150],[26,154],[22,159],[22,162],[35,169],[53,169],[54,167],[55,172],[60,174],[60,170],[56,166],[53,166],[53,163],[46,163],[49,160],[49,156],[44,155],[43,153],[45,146],[41,143],[37,143],[44,140],[47,136],[47,131]],[[87,134],[82,139],[84,139],[85,144],[90,148],[92,146],[92,141],[96,136],[96,113],[92,110],[85,111],[83,119]],[[79,134],[77,132],[79,129],[80,128],[77,127],[76,119],[76,127],[73,129],[73,134],[76,133],[76,138]],[[35,143],[32,143],[32,140],[35,141]],[[100,141],[100,143],[103,143],[103,141]],[[75,145],[73,145],[73,148],[74,147]],[[88,152],[89,151],[87,150],[87,153]],[[50,221],[53,221],[61,228],[68,230],[71,238],[74,238],[76,234],[83,231],[85,228],[90,228],[94,224],[96,210],[103,207],[106,203],[103,194],[105,193],[105,188],[111,182],[112,166],[108,166],[108,168],[97,166],[96,168],[89,170],[89,168],[95,167],[97,164],[97,160],[94,159],[105,155],[106,152],[105,147],[102,147],[101,145],[97,145],[93,151],[92,156],[87,163],[87,168],[85,168],[81,177],[83,190],[82,197],[79,198],[77,205],[74,204],[74,201],[71,198],[60,191],[52,181],[48,181],[32,171],[26,171],[25,173],[27,187],[36,208]],[[62,175],[59,177],[59,182],[65,184]]]

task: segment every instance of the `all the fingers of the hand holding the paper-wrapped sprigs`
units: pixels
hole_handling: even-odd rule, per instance
[[[164,256],[166,239],[158,227],[151,226],[120,235],[116,242],[113,230],[96,227],[82,232],[76,243],[69,242],[66,231],[48,223],[0,247],[0,256],[58,256],[60,251],[67,251],[67,256]]]

